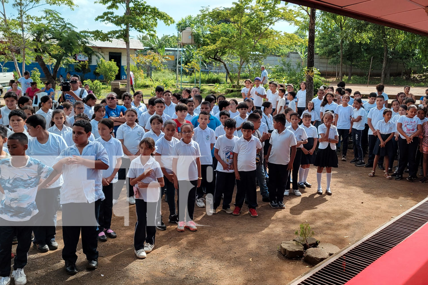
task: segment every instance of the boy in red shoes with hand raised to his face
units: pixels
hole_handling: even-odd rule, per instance
[[[256,192],[256,154],[262,150],[262,142],[254,135],[254,123],[245,121],[242,123],[242,136],[233,148],[233,168],[236,178],[235,209],[233,213],[238,216],[241,213],[244,199],[247,197],[248,208],[251,217],[257,217],[257,192]]]

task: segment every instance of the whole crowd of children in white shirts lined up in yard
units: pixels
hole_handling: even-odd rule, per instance
[[[383,85],[364,101],[359,91],[351,97],[352,90],[339,82],[337,88],[321,87],[306,102],[306,82],[296,93],[292,84],[276,82],[266,91],[260,81],[256,77],[253,85],[245,80],[243,102],[214,94],[202,100],[196,87],[172,94],[157,86],[147,106],[140,91],[122,94],[123,106],[116,106],[117,95],[111,92],[100,104],[88,94],[55,110],[51,97],[43,96],[37,112],[30,97],[18,100],[14,92],[6,92],[6,106],[0,109],[0,285],[10,282],[14,236],[15,284],[26,282],[23,267],[32,231],[39,252],[58,248],[60,205],[66,273],[78,271],[80,234],[87,268],[97,268],[98,241],[117,236],[111,229],[112,209],[125,179],[127,200],[137,213],[138,258],[153,250],[156,229],[166,229],[163,194],[168,222],[177,223],[178,232],[197,231],[195,205],[209,214],[217,214],[221,205],[227,214],[239,215],[246,203],[250,216],[257,217],[257,184],[263,202],[285,209],[284,196],[301,196],[300,189],[312,187],[311,165],[317,167],[316,193],[323,194],[326,168],[325,193],[331,195],[332,168],[339,165],[340,147],[341,160],[347,161],[350,137],[350,162],[371,168],[370,177],[379,168],[386,179],[400,180],[407,168],[412,182],[421,165],[419,182],[428,181],[428,96],[415,105],[406,86],[388,109]],[[30,224],[33,228],[26,227]]]

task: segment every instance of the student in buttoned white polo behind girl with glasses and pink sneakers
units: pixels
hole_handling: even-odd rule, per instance
[[[210,114],[202,111],[199,113],[199,125],[193,129],[193,140],[199,144],[199,150],[201,152],[200,160],[202,183],[201,186],[196,189],[196,206],[200,208],[205,207],[205,203],[202,199],[202,196],[204,195],[203,188],[206,189],[207,194],[214,194],[214,181],[208,182],[207,179],[207,174],[212,172],[213,159],[211,156],[211,150],[215,144],[215,133],[213,129],[208,128],[209,122]]]

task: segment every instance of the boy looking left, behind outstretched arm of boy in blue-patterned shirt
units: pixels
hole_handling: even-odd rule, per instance
[[[31,136],[28,141],[27,155],[39,159],[45,165],[53,166],[55,159],[67,147],[60,135],[46,130],[46,121],[42,115],[32,115],[27,118],[27,131]],[[64,183],[59,174],[44,189],[37,192],[36,204],[39,213],[34,220],[34,247],[39,252],[56,250],[58,243],[56,235],[56,211],[59,209],[59,194]]]

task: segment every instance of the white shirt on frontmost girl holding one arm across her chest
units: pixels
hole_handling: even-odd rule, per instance
[[[157,183],[158,178],[163,177],[162,170],[160,169],[160,165],[152,156],[149,156],[149,160],[143,165],[141,163],[141,156],[138,156],[136,159],[131,161],[131,165],[129,166],[127,177],[136,178],[144,173],[146,169],[152,169],[153,171],[149,176],[146,176],[141,180],[143,183]],[[139,188],[137,184],[134,186],[137,187],[139,196],[136,199],[144,200],[145,202],[158,202],[160,195],[160,187],[147,187],[147,188]]]

